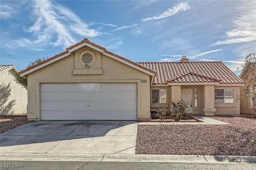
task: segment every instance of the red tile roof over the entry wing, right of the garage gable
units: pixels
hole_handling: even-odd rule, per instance
[[[220,84],[243,84],[228,66],[214,62],[142,62],[138,63],[157,72],[153,84],[182,82],[220,82]]]

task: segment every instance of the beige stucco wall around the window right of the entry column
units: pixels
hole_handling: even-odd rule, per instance
[[[215,86],[214,89],[234,89],[234,102],[226,104],[214,104],[215,115],[239,115],[240,102],[236,102],[236,96],[240,94],[240,86]]]

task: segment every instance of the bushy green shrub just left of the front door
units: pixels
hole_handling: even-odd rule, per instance
[[[186,102],[185,100],[178,100],[177,103],[172,102],[170,109],[175,121],[179,121],[184,115],[186,115],[188,103],[189,102]]]

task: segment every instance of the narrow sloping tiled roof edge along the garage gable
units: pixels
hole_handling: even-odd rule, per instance
[[[55,55],[54,57],[51,57],[51,58],[49,58],[49,59],[47,59],[47,60],[45,60],[45,61],[42,61],[42,62],[40,62],[40,63],[38,63],[38,64],[36,64],[36,65],[34,65],[34,66],[28,67],[28,68],[26,68],[25,70],[20,71],[18,74],[22,74],[22,73],[24,73],[24,72],[26,72],[26,71],[28,71],[28,70],[31,70],[32,68],[35,68],[35,67],[37,67],[37,66],[40,66],[40,65],[42,65],[42,64],[44,64],[44,63],[47,63],[48,61],[51,61],[51,60],[56,59],[56,58],[58,58],[58,57],[60,57],[60,56],[62,56],[62,55],[64,55],[64,54],[66,54],[66,53],[69,53],[69,52],[68,52],[69,50],[73,49],[74,47],[77,47],[78,45],[81,45],[82,43],[88,43],[88,44],[90,44],[90,45],[92,45],[92,46],[94,46],[94,47],[96,47],[96,48],[98,48],[98,49],[103,50],[105,53],[107,53],[107,54],[109,54],[109,55],[113,55],[114,57],[117,57],[117,58],[119,58],[119,59],[122,59],[122,60],[124,60],[124,61],[126,61],[126,62],[128,62],[128,63],[131,63],[131,64],[133,64],[133,65],[135,65],[135,66],[138,66],[138,67],[140,67],[140,68],[142,68],[142,69],[144,69],[144,70],[146,70],[146,71],[149,71],[149,72],[152,72],[152,73],[156,74],[155,71],[153,71],[153,70],[151,70],[151,69],[148,69],[148,68],[146,68],[145,66],[142,66],[141,64],[137,64],[137,63],[135,63],[135,62],[133,62],[133,61],[131,61],[131,60],[129,60],[129,59],[126,59],[126,58],[124,58],[124,57],[122,57],[122,56],[120,56],[120,55],[117,55],[117,54],[115,54],[115,53],[113,53],[113,52],[111,52],[111,51],[107,51],[106,48],[101,47],[100,45],[97,45],[97,44],[95,44],[95,43],[92,43],[92,42],[90,42],[88,39],[84,39],[84,40],[82,40],[81,42],[76,43],[75,45],[72,45],[72,46],[66,48],[66,51],[64,51],[64,52],[62,52],[62,53],[60,53],[60,54],[58,54],[58,55]]]

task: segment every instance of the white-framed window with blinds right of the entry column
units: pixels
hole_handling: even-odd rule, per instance
[[[233,89],[215,89],[215,103],[233,103]]]

